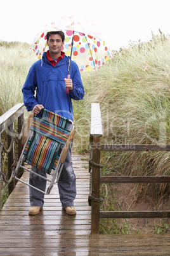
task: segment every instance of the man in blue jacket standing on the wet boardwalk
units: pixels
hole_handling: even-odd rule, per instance
[[[70,78],[67,79],[69,59],[62,52],[65,36],[62,31],[47,33],[48,52],[44,52],[42,60],[35,62],[29,70],[23,85],[23,103],[28,111],[39,114],[41,108],[73,120],[72,99],[84,97],[84,88],[79,68],[75,62],[70,65]],[[69,94],[66,93],[69,89]],[[36,96],[34,96],[36,91]],[[36,173],[45,173],[32,167]],[[46,180],[30,173],[30,185],[46,189]],[[58,190],[63,209],[68,215],[75,215],[74,199],[76,196],[75,174],[72,168],[71,148],[67,153],[62,174],[58,180]],[[37,215],[44,204],[44,194],[30,187],[29,215]]]

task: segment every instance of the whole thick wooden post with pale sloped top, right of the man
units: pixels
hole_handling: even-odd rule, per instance
[[[91,132],[92,138],[92,192],[91,196],[100,198],[100,138],[102,136],[100,104],[91,104]],[[100,203],[91,199],[91,234],[99,234]]]

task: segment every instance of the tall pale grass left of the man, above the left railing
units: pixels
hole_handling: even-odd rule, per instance
[[[22,85],[30,65],[37,60],[30,45],[0,41],[0,115],[22,103]]]

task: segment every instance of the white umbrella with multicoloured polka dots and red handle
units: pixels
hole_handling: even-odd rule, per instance
[[[97,71],[112,58],[108,46],[101,39],[100,31],[92,20],[86,19],[80,22],[74,17],[60,17],[58,21],[47,24],[34,39],[31,48],[39,59],[43,52],[48,50],[46,45],[48,31],[65,33],[62,51],[77,63],[80,71]],[[68,72],[70,72],[70,64]]]

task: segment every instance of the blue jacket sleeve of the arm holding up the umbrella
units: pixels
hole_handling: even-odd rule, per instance
[[[74,85],[73,90],[70,90],[69,94],[72,97],[72,99],[75,100],[80,100],[84,97],[84,87],[82,85],[82,80],[81,80],[81,74],[79,71],[79,68],[75,62],[72,62],[71,64],[72,67],[72,83]]]

